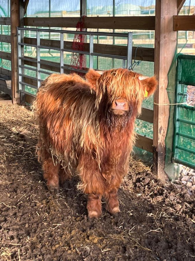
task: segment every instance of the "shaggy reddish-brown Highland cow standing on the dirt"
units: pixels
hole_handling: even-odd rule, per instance
[[[88,194],[88,216],[98,218],[102,196],[110,213],[120,212],[117,191],[128,172],[135,118],[145,91],[154,93],[157,82],[127,69],[102,75],[89,70],[86,79],[52,74],[42,82],[34,104],[38,155],[48,186],[79,174],[79,188]]]

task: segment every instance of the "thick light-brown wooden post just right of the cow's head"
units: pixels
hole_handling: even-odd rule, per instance
[[[177,15],[177,0],[156,1],[154,70],[159,85],[154,95],[153,171],[162,180],[168,179],[164,164],[169,106],[162,104],[169,104],[166,92],[167,74],[177,44],[177,32],[173,31],[173,15]]]

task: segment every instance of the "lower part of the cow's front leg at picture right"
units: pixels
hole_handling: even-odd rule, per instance
[[[112,215],[120,212],[117,191],[117,188],[107,188],[104,195],[106,208]]]

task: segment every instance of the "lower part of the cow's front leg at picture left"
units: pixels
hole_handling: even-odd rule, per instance
[[[100,194],[92,193],[88,195],[87,210],[89,218],[100,218],[102,213],[102,203]]]

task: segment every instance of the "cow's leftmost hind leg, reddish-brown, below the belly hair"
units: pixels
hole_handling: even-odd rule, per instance
[[[47,186],[50,189],[59,188],[59,170],[60,164],[54,164],[52,157],[48,157],[47,160],[43,162],[43,177],[47,181]]]

